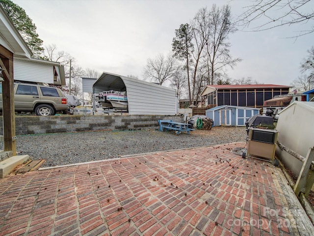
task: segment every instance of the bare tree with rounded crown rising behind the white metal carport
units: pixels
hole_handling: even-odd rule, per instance
[[[144,68],[144,78],[157,81],[162,85],[167,80],[173,78],[179,71],[177,60],[169,53],[165,58],[162,54],[158,54],[155,59],[147,59]]]

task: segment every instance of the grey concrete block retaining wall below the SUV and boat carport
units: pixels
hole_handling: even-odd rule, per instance
[[[158,119],[173,119],[183,122],[182,116],[124,115],[124,116],[16,116],[16,135],[48,134],[97,130],[158,129]],[[0,135],[3,135],[2,117]]]

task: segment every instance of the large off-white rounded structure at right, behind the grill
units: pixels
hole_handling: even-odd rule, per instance
[[[276,154],[298,176],[303,162],[297,157],[305,158],[309,148],[314,147],[314,102],[294,101],[279,113],[276,129],[279,132]]]

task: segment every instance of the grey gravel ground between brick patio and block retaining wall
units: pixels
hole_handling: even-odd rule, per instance
[[[42,167],[118,158],[180,148],[196,148],[246,140],[245,127],[213,127],[187,135],[174,131],[98,131],[17,136],[17,153],[46,159]],[[3,143],[0,143],[0,150]]]

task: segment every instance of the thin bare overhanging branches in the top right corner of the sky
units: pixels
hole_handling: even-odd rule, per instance
[[[249,28],[257,19],[265,20],[263,23],[252,28],[252,31],[262,31],[282,26],[310,23],[306,30],[298,35],[313,33],[314,8],[312,0],[255,0],[253,5],[246,7],[237,24]]]

